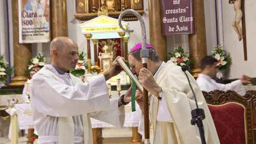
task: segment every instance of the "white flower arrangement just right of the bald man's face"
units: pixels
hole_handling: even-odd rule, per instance
[[[71,73],[75,76],[83,76],[85,74],[85,70],[88,68],[85,61],[85,53],[83,51],[79,52],[78,57],[79,60],[77,61],[77,65]]]

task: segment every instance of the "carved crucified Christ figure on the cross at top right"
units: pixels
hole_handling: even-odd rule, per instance
[[[239,24],[243,17],[242,0],[229,0],[229,3],[234,5],[234,10],[235,10],[235,18],[232,23],[232,27],[234,28],[235,32],[237,33],[239,41],[241,41],[243,38],[243,30]]]

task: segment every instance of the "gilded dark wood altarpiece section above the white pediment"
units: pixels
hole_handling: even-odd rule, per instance
[[[76,0],[76,14],[74,17],[81,22],[93,19],[102,13],[109,17],[118,18],[126,9],[136,10],[143,15],[143,0]],[[126,15],[124,21],[138,20],[134,15]]]

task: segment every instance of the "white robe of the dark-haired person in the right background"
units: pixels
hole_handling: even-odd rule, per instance
[[[222,84],[217,83],[214,79],[211,79],[208,75],[205,74],[199,74],[198,78],[196,79],[199,87],[201,90],[209,92],[213,90],[234,90],[239,95],[245,95],[245,89],[243,87],[243,84],[241,83],[241,80],[236,80],[228,84]]]

